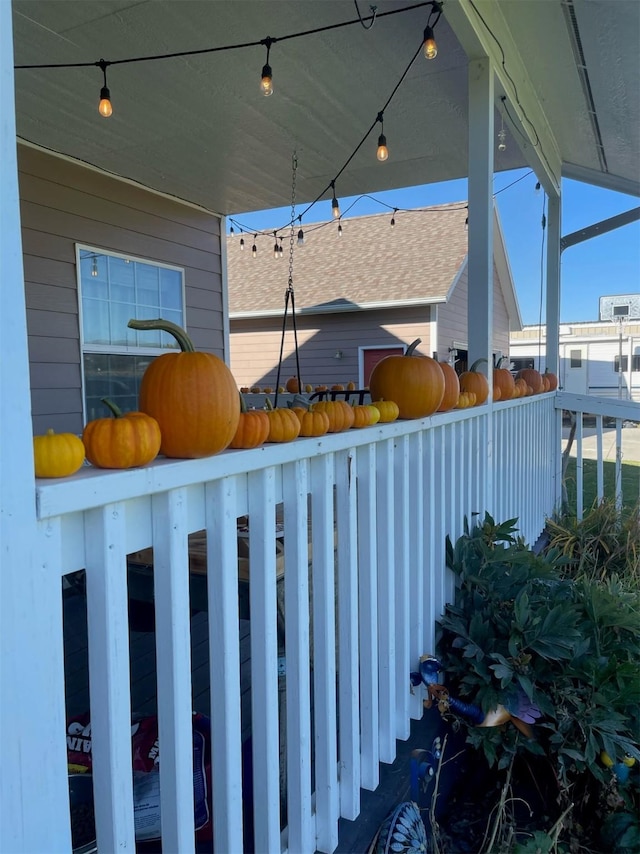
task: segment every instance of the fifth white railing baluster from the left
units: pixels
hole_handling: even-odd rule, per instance
[[[315,847],[311,800],[309,477],[306,460],[284,467],[283,493],[287,816],[289,851],[293,852],[310,851]]]

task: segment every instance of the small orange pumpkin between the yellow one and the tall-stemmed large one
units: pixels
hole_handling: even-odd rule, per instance
[[[90,463],[102,469],[129,469],[144,466],[158,456],[160,427],[144,412],[122,414],[106,397],[113,418],[96,418],[82,431],[82,443]]]

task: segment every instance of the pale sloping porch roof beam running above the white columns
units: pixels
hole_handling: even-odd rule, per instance
[[[514,139],[547,195],[559,195],[559,149],[500,4],[448,0],[443,11],[469,60],[491,59],[498,89],[504,92],[509,114],[518,122]]]

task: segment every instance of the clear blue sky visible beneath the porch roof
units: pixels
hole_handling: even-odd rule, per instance
[[[544,289],[544,268],[541,265],[544,194],[535,192],[537,179],[533,173],[527,174],[528,171],[520,169],[496,175],[494,191],[497,194],[496,201],[522,320],[524,323],[537,323],[540,317],[541,288]],[[516,181],[517,183],[508,187]],[[343,213],[356,198],[340,198],[340,208]],[[353,205],[346,217],[383,213],[388,210],[385,204],[390,208],[417,208],[464,201],[466,198],[466,179],[426,184],[420,187],[375,193],[373,198],[362,198]],[[578,181],[564,180],[562,234],[570,234],[637,205],[638,200],[633,196],[602,190]],[[302,210],[304,206],[300,206],[296,214]],[[262,231],[280,228],[288,222],[290,215],[290,208],[280,208],[239,214],[236,218],[249,229]],[[330,203],[327,201],[316,204],[305,220],[320,222],[330,218]],[[262,242],[264,243],[265,240],[263,239]],[[284,242],[286,244],[286,240]],[[562,256],[561,275],[560,319],[563,323],[597,320],[601,296],[638,293],[640,291],[640,222],[631,223],[616,231],[568,248]],[[543,322],[544,311],[543,295]]]

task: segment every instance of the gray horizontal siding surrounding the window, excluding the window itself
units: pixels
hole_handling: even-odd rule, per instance
[[[220,221],[46,152],[18,147],[35,433],[80,433],[76,243],[184,268],[186,325],[223,355]]]

